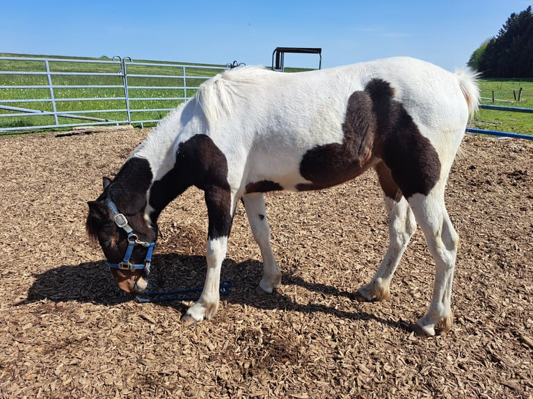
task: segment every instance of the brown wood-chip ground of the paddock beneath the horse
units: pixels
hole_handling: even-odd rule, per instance
[[[374,172],[331,190],[267,195],[283,271],[257,297],[260,252],[239,204],[214,319],[191,302],[121,293],[84,231],[100,193],[147,131],[0,140],[2,398],[532,398],[533,145],[467,136],[447,188],[461,237],[452,331],[413,323],[431,299],[420,229],[392,298],[356,302],[388,244]],[[207,215],[187,191],[162,213],[152,287],[202,286]]]

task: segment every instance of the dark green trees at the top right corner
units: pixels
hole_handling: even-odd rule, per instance
[[[492,78],[533,77],[533,13],[531,6],[512,13],[498,31],[470,56],[468,66]]]

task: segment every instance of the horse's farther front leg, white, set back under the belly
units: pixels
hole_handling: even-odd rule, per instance
[[[263,193],[249,193],[242,198],[250,222],[253,238],[261,250],[263,275],[255,292],[259,295],[272,293],[281,284],[281,272],[270,245],[270,227],[266,218]]]

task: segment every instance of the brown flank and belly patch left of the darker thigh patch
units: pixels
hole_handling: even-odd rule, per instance
[[[306,152],[300,174],[312,181],[299,184],[298,190],[319,190],[344,183],[369,168],[376,133],[376,115],[366,92],[353,92],[342,124],[342,144],[317,145]]]

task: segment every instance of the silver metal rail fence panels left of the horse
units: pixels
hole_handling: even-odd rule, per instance
[[[113,59],[0,57],[0,133],[161,120],[226,70]]]

